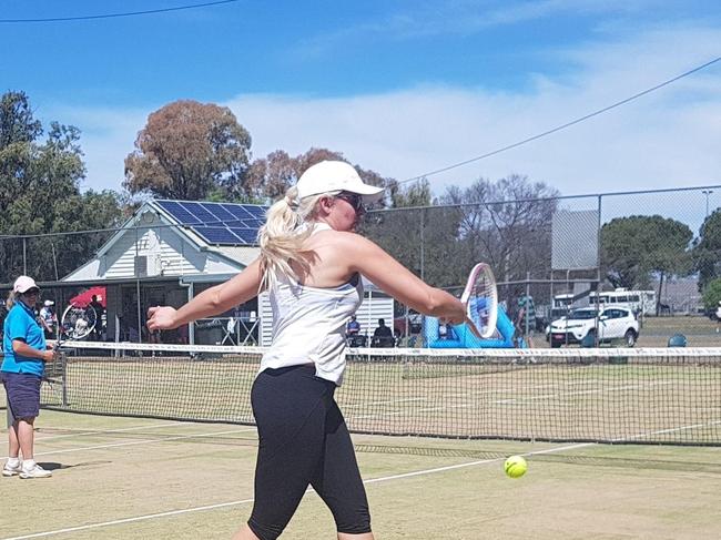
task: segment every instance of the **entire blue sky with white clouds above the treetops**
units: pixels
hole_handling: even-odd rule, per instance
[[[0,19],[193,0],[7,1]],[[254,156],[326,146],[398,180],[512,144],[721,55],[708,0],[238,1],[0,22],[0,91],[82,131],[85,187],[120,190],[148,114],[230,106]],[[721,183],[721,62],[520,149],[431,176],[527,174],[563,194]]]

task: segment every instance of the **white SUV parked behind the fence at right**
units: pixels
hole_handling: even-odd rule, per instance
[[[588,339],[595,342],[598,334],[599,343],[623,339],[628,347],[633,347],[639,337],[639,322],[630,309],[623,307],[606,307],[598,313],[595,307],[573,309],[567,317],[561,317],[550,324],[548,339],[551,347],[563,344],[581,343]]]

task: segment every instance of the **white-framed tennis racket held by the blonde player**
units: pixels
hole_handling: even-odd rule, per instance
[[[470,271],[460,302],[465,304],[466,315],[475,326],[471,326],[474,334],[485,339],[492,336],[498,317],[498,293],[494,272],[486,263],[478,263]]]

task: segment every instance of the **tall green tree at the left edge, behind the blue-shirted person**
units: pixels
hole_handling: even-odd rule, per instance
[[[62,277],[88,261],[105,235],[52,235],[104,228],[120,208],[112,192],[80,192],[85,167],[80,132],[50,124],[44,142],[27,95],[0,98],[0,282],[28,273],[40,281]],[[21,238],[20,236],[33,235]]]

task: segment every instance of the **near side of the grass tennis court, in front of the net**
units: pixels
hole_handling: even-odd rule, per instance
[[[379,539],[721,536],[718,447],[354,441]],[[38,461],[54,476],[0,478],[3,500],[38,509],[3,511],[0,538],[230,538],[251,511],[255,451],[252,427],[43,411]],[[506,478],[502,459],[529,451],[547,454]],[[335,538],[317,496],[282,538]]]

